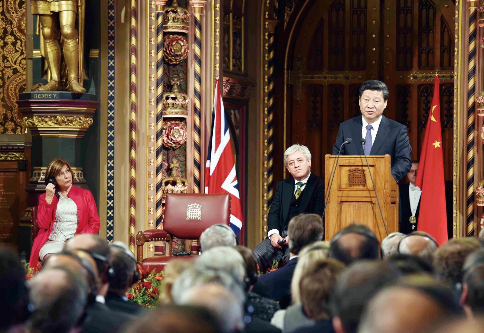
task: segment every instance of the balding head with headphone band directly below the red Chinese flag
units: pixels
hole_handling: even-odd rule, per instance
[[[405,235],[398,243],[398,253],[411,254],[432,261],[439,248],[436,240],[426,232],[415,231]]]

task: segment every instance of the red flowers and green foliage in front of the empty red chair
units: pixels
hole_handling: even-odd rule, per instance
[[[154,309],[160,304],[159,293],[162,288],[163,272],[152,270],[144,279],[137,281],[131,288],[128,300]]]

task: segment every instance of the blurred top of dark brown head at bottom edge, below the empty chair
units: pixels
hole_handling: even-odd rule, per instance
[[[183,320],[180,320],[183,318]],[[137,319],[126,333],[222,333],[210,310],[171,304],[161,306]]]

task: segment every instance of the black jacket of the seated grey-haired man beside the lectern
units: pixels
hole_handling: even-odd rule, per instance
[[[299,213],[315,213],[323,215],[324,209],[324,180],[311,173],[307,184],[302,190]],[[277,183],[272,199],[269,215],[267,216],[267,230],[277,229],[282,232],[289,221],[289,206],[294,196],[294,178],[290,177]]]

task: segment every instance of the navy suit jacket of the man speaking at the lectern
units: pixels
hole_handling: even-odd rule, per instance
[[[338,137],[333,146],[333,155],[338,155],[340,145],[347,138],[353,139],[353,142],[343,145],[341,155],[364,155],[361,145],[362,117],[356,116],[339,125]],[[381,115],[377,137],[371,147],[370,155],[389,154],[392,158],[392,175],[397,182],[408,174],[412,167],[411,150],[407,127]]]

